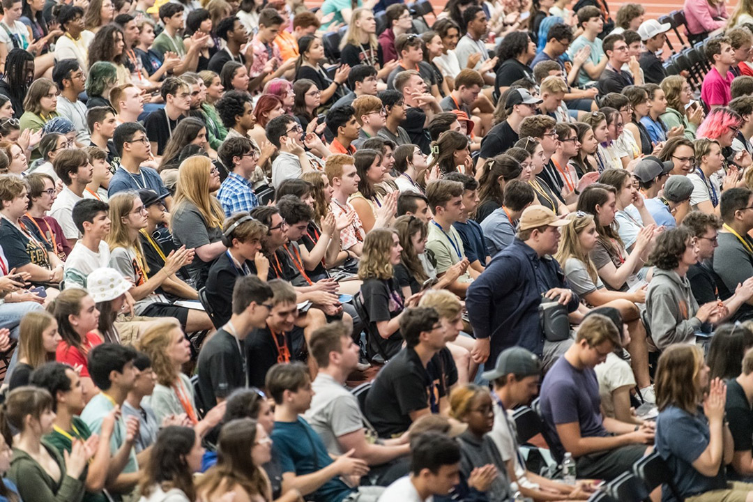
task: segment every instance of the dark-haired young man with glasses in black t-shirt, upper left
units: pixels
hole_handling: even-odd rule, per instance
[[[160,96],[165,108],[152,111],[144,120],[151,151],[157,156],[163,154],[172,131],[191,108],[191,88],[181,78],[168,77],[160,87]]]

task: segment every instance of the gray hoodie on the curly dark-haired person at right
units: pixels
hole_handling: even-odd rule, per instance
[[[697,311],[687,277],[680,278],[674,270],[654,268],[646,294],[646,315],[651,338],[660,350],[672,343],[695,342],[694,333],[701,327],[701,321],[693,317]]]

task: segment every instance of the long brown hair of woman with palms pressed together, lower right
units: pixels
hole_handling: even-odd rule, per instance
[[[675,343],[664,349],[654,380],[659,411],[677,406],[691,415],[697,413],[703,398],[699,375],[705,364],[698,345]]]

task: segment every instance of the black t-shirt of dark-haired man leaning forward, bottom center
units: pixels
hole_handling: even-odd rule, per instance
[[[410,412],[430,406],[434,381],[413,348],[406,347],[383,367],[366,396],[364,415],[380,437],[395,437],[408,430]]]

